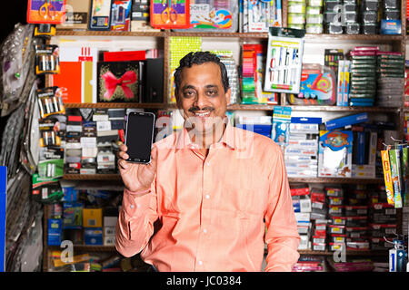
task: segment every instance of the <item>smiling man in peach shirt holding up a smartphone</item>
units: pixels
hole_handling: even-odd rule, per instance
[[[149,165],[121,146],[119,253],[158,271],[260,271],[265,241],[265,270],[291,271],[300,237],[281,150],[229,123],[230,93],[214,54],[188,53],[175,71],[185,128],[155,142]]]

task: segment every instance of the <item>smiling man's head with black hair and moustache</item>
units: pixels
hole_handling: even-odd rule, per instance
[[[210,133],[224,119],[230,93],[224,63],[213,53],[188,53],[175,70],[177,106],[195,131]]]

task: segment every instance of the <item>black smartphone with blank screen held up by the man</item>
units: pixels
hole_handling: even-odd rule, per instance
[[[126,117],[125,145],[128,162],[151,162],[151,149],[154,141],[155,114],[145,111],[130,111]]]

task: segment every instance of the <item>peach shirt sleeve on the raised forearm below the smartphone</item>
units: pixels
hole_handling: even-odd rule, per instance
[[[154,233],[158,218],[155,181],[147,191],[124,190],[115,229],[115,248],[123,256],[141,252]]]

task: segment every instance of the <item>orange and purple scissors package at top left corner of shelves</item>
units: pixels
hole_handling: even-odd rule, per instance
[[[61,24],[65,20],[65,0],[29,0],[27,23]]]

